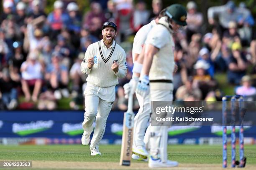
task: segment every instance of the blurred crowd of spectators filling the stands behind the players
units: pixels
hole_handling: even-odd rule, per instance
[[[102,39],[102,23],[118,26],[116,41],[127,53],[128,72],[116,87],[113,109],[126,110],[123,85],[132,77],[133,37],[163,9],[161,0],[91,2],[82,13],[76,0],[56,0],[45,13],[46,0],[3,0],[0,12],[0,109],[58,109],[84,105],[86,75],[80,71],[87,47]],[[193,1],[187,3],[187,28],[174,35],[175,100],[220,100],[216,73],[234,93],[256,95],[255,18],[241,2],[209,7],[207,20]],[[148,10],[149,9],[149,10]],[[209,29],[210,28],[210,29]],[[210,31],[209,31],[210,30]],[[135,101],[134,108],[138,108]]]

